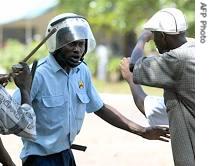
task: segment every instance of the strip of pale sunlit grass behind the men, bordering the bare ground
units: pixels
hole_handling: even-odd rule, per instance
[[[93,78],[93,83],[100,93],[131,94],[129,85],[126,81],[105,82]],[[149,95],[163,95],[163,90],[160,88],[143,86],[143,89]]]

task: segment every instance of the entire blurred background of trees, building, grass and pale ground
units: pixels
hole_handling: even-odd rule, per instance
[[[177,7],[188,22],[187,36],[195,36],[194,0],[0,0],[0,73],[8,73],[13,64],[26,57],[45,35],[48,21],[63,12],[87,18],[97,47],[85,56],[93,81],[104,101],[118,108],[131,120],[147,125],[135,107],[129,86],[122,79],[119,63],[129,57],[144,22],[164,7]],[[42,46],[30,59],[48,54]],[[154,43],[146,45],[146,55],[157,54]],[[14,88],[10,83],[9,89]],[[161,96],[157,88],[143,87],[150,95]],[[74,152],[80,166],[172,166],[170,143],[147,141],[119,131],[95,118],[86,116],[76,142],[88,144],[85,153]],[[15,136],[1,136],[12,155],[18,158],[21,141]]]

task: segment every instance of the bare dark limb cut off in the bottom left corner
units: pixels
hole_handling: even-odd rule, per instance
[[[15,164],[13,163],[11,157],[9,156],[8,152],[6,151],[6,149],[4,148],[4,145],[1,141],[0,138],[0,163],[3,164],[3,166],[15,166]]]

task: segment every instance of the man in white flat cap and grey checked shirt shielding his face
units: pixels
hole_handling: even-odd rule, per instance
[[[195,43],[187,41],[185,16],[176,8],[158,11],[144,29],[131,55],[133,81],[164,89],[175,166],[194,166]],[[143,56],[151,40],[160,54]]]

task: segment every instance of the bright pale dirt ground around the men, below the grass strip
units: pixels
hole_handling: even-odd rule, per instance
[[[141,125],[146,119],[135,107],[130,95],[101,94],[106,104],[116,107],[123,115]],[[19,159],[20,138],[1,136],[12,159]],[[94,114],[87,114],[76,144],[86,145],[86,152],[73,150],[78,166],[173,166],[171,145],[149,141],[137,135],[112,127]]]

